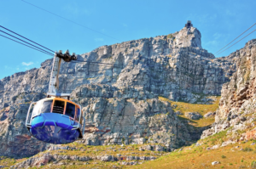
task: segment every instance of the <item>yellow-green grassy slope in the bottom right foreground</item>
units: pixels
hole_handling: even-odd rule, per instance
[[[129,168],[256,168],[256,144],[252,145],[253,140],[209,149],[213,144],[220,144],[225,134],[219,132],[201,140],[199,146],[193,144],[179,152],[177,150],[155,161],[147,161]],[[220,164],[212,166],[213,161],[218,161]]]

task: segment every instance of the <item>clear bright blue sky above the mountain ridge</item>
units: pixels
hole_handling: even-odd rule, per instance
[[[187,20],[192,20],[201,31],[202,47],[214,54],[256,22],[255,0],[26,1],[115,38],[74,25],[21,0],[0,0],[0,25],[54,51],[69,49],[76,54],[90,52],[102,45],[167,35],[181,30]],[[256,25],[250,31],[254,29]],[[256,31],[218,57],[242,48],[253,38],[256,38]],[[38,68],[41,62],[50,58],[3,37],[0,37],[0,44],[0,79]]]

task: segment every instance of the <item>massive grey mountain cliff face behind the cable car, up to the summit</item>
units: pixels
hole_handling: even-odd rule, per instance
[[[88,127],[102,127],[84,136],[87,144],[160,142],[176,148],[197,138],[158,96],[203,102],[202,95],[219,95],[236,69],[231,57],[215,59],[202,49],[194,27],[96,48],[79,60],[85,62],[61,64],[60,92],[82,104]],[[0,81],[2,155],[28,156],[49,146],[31,138],[24,123],[28,104],[47,93],[51,66],[48,59],[39,69]]]

